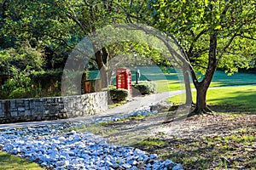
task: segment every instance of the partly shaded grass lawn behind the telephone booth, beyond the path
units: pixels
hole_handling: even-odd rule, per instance
[[[157,92],[173,91],[184,89],[182,72],[169,68],[162,71],[158,66],[139,67],[141,81],[151,80],[157,84]],[[135,69],[131,68],[132,81],[135,81]],[[112,84],[115,84],[115,76],[112,77]],[[223,87],[232,85],[256,84],[256,74],[234,73],[228,76],[224,71],[215,71],[210,87]],[[191,88],[195,88],[191,83]]]

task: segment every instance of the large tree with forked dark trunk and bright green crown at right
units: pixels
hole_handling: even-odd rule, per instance
[[[180,42],[196,88],[195,113],[209,111],[207,89],[215,70],[247,67],[255,54],[256,5],[248,0],[155,0],[132,3],[131,22],[172,33]],[[137,10],[137,7],[140,10]],[[133,9],[133,10],[132,10]],[[198,76],[201,71],[202,77]]]

